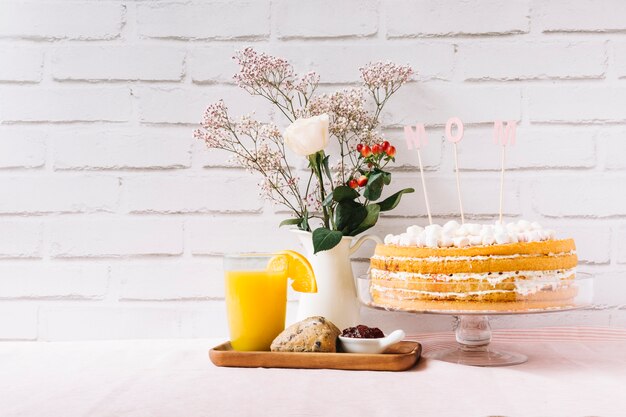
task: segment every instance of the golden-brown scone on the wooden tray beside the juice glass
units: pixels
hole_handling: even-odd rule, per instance
[[[287,327],[272,342],[272,352],[336,352],[341,331],[324,317],[309,317]]]

